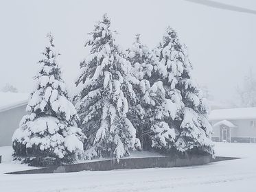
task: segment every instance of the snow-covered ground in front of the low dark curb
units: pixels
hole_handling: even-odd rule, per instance
[[[256,144],[216,143],[217,156],[243,157],[209,165],[129,169],[115,171],[81,171],[33,175],[5,175],[5,171],[31,169],[10,163],[10,147],[0,147],[0,191],[255,191]],[[139,156],[139,154],[137,154]]]

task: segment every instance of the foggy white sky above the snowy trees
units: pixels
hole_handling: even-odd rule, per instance
[[[256,10],[255,0],[218,0]],[[45,35],[53,32],[59,64],[73,86],[86,50],[86,34],[107,13],[118,43],[128,47],[136,33],[154,47],[167,25],[189,49],[198,84],[218,100],[233,97],[249,69],[256,71],[256,15],[209,8],[183,0],[1,1],[0,87],[13,84],[30,92]]]

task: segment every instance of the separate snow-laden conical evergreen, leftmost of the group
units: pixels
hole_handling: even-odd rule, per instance
[[[53,36],[39,61],[36,86],[27,112],[12,137],[14,158],[34,166],[72,163],[83,152],[84,134],[77,128],[78,115],[68,99],[56,63]]]

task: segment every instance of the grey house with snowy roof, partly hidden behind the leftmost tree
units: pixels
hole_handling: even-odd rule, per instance
[[[27,93],[0,92],[0,147],[12,145],[12,134],[26,114]]]

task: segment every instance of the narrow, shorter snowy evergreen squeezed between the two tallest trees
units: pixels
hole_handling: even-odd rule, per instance
[[[156,82],[154,77],[154,65],[157,63],[153,51],[141,43],[140,34],[136,34],[135,42],[127,50],[127,57],[132,64],[132,75],[139,80],[139,84],[133,84],[137,95],[137,103],[129,106],[128,118],[137,130],[137,137],[141,141],[143,149],[150,149],[152,143],[150,136],[152,126],[157,123],[155,119],[155,93],[151,93],[151,86]]]

